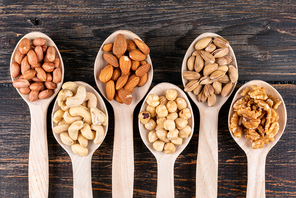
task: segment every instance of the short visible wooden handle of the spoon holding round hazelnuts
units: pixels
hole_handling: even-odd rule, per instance
[[[165,154],[167,155],[167,154]],[[156,198],[173,198],[174,191],[174,163],[175,158],[162,158],[157,160],[157,192]]]

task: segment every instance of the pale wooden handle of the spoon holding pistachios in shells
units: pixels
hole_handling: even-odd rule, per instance
[[[218,186],[218,110],[200,109],[196,197],[216,198]]]

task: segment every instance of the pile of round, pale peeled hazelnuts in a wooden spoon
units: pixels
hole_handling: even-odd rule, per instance
[[[191,127],[187,125],[187,119],[191,118],[190,109],[186,108],[184,98],[176,97],[177,91],[172,89],[167,90],[165,96],[150,94],[146,100],[146,111],[139,113],[139,120],[145,128],[152,130],[148,139],[158,152],[175,152],[175,145],[181,145],[183,138],[191,134]]]

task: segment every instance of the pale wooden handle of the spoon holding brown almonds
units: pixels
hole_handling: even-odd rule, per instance
[[[133,109],[114,107],[112,197],[133,197]]]

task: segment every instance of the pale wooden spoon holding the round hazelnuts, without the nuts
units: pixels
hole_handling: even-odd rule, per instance
[[[144,124],[142,124],[139,121],[139,130],[140,130],[141,138],[144,144],[147,146],[147,148],[153,153],[157,161],[157,192],[156,192],[157,198],[174,197],[174,163],[176,158],[179,156],[179,154],[188,145],[192,137],[193,128],[194,128],[194,118],[193,118],[193,112],[192,112],[190,102],[186,94],[179,87],[167,82],[163,82],[153,87],[153,89],[148,93],[148,95],[149,94],[156,94],[158,96],[165,95],[165,92],[168,89],[176,90],[178,93],[177,98],[181,97],[186,100],[187,108],[191,110],[191,118],[189,118],[187,121],[188,121],[188,125],[191,127],[192,130],[189,137],[183,138],[183,142],[181,145],[176,145],[176,151],[174,153],[165,154],[164,151],[157,152],[153,148],[153,143],[150,143],[148,139],[149,130],[147,130]],[[148,95],[144,99],[144,102],[141,106],[140,111],[146,111],[146,108],[148,106],[148,104],[146,103]]]

